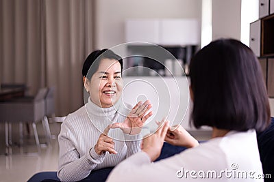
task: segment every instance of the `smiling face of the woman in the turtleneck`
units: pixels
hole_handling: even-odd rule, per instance
[[[90,80],[84,81],[93,103],[101,108],[109,108],[119,100],[123,90],[121,72],[119,61],[115,59],[100,61],[97,72]]]

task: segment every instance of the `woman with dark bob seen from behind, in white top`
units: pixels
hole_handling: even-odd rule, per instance
[[[142,151],[117,165],[108,181],[264,181],[256,130],[270,121],[269,100],[260,63],[238,40],[205,46],[190,62],[191,119],[212,127],[212,139],[200,145],[179,125],[164,121],[142,140]],[[153,162],[164,140],[189,147]]]

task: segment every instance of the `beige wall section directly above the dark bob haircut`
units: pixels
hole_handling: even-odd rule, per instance
[[[212,0],[212,40],[240,40],[241,0]]]

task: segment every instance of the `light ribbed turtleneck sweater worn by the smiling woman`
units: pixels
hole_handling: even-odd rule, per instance
[[[88,177],[92,170],[116,166],[140,151],[141,134],[128,135],[120,129],[111,129],[108,136],[114,139],[117,154],[106,152],[98,155],[95,152],[95,145],[105,127],[125,120],[131,109],[126,107],[119,100],[110,108],[100,108],[89,98],[85,106],[66,117],[58,136],[58,178],[61,181],[79,181]]]

